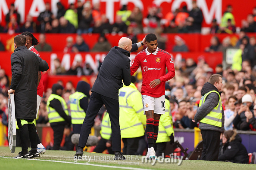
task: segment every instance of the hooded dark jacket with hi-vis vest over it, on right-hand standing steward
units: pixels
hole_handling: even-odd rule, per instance
[[[224,111],[218,89],[209,82],[203,85],[201,90],[202,98],[199,108],[194,117],[197,122],[200,120],[201,130],[224,132]]]

